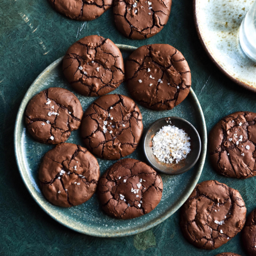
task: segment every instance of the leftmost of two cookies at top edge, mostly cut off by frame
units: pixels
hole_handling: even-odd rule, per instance
[[[109,10],[113,0],[49,0],[53,8],[71,19],[92,20]]]

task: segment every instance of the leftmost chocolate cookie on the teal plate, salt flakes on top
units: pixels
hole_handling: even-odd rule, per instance
[[[54,87],[36,94],[28,103],[25,122],[34,139],[48,144],[66,141],[82,119],[79,99],[70,91]]]

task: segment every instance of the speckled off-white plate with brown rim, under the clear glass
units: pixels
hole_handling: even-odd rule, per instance
[[[234,82],[256,92],[256,63],[239,44],[242,20],[254,1],[194,0],[195,23],[203,47]]]

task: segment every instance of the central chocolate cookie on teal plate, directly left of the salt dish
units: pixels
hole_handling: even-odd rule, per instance
[[[142,116],[135,102],[119,94],[104,95],[84,113],[81,135],[95,155],[116,160],[132,154],[142,136]]]

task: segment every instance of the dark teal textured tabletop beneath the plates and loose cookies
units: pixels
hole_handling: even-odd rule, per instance
[[[127,39],[116,30],[112,10],[85,24],[56,13],[47,0],[0,0],[0,254],[214,256],[232,251],[245,256],[241,233],[215,251],[187,243],[179,228],[180,211],[135,236],[95,238],[58,224],[30,196],[19,175],[13,147],[20,102],[45,68],[63,56],[77,39],[91,34],[109,37],[116,44],[139,47],[158,42],[180,50],[191,69],[192,88],[202,106],[207,132],[230,113],[256,112],[256,95],[225,77],[204,52],[194,26],[191,0],[174,0],[163,30],[141,41]],[[218,175],[206,156],[199,181],[209,179],[238,189],[248,212],[256,207],[256,177],[241,181]]]

